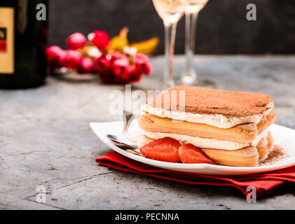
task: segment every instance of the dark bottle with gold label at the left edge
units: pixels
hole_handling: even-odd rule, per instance
[[[40,14],[44,8],[48,9],[47,0],[0,1],[0,88],[45,83],[48,18],[46,11]]]

